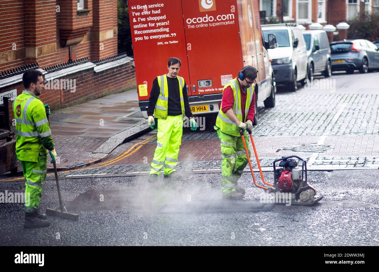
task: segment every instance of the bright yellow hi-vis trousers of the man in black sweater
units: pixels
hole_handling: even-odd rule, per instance
[[[159,175],[163,165],[165,175],[175,171],[182,134],[182,115],[168,115],[165,120],[158,119],[157,148],[155,148],[154,158],[151,162],[150,174]]]

